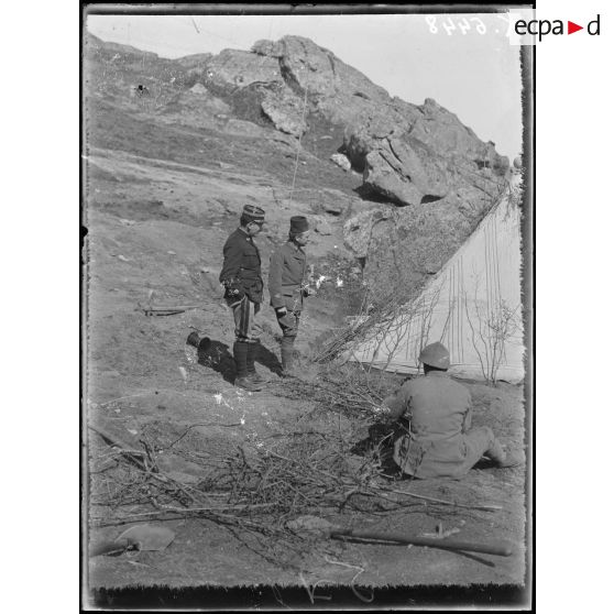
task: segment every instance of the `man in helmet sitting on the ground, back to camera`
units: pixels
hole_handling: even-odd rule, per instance
[[[408,429],[394,441],[393,459],[414,478],[461,478],[485,456],[497,467],[516,467],[489,427],[471,428],[471,394],[447,373],[450,352],[439,342],[423,349],[425,375],[406,381],[384,399],[388,420],[407,419]]]

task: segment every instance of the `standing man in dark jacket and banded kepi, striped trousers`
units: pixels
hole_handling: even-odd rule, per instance
[[[253,238],[264,224],[264,210],[245,205],[240,227],[223,246],[223,267],[220,282],[226,287],[224,299],[234,315],[232,348],[237,363],[234,385],[246,391],[262,390],[263,380],[256,373],[254,361],[260,340],[254,330],[254,319],[262,303],[263,282],[260,252]]]

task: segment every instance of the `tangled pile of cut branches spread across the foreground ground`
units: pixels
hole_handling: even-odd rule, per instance
[[[193,437],[197,436],[193,432]],[[91,458],[90,505],[107,511],[92,516],[92,520],[106,525],[201,517],[278,531],[284,530],[286,520],[301,514],[325,514],[347,507],[376,512],[408,505],[407,498],[392,496],[394,491],[379,479],[377,450],[364,457],[354,456],[338,432],[311,429],[276,434],[211,452],[195,451],[189,439],[177,440],[179,449],[172,450],[201,468],[201,478],[191,483],[158,468],[155,450],[164,449],[163,441],[147,442],[140,458],[138,451],[127,453],[117,445],[111,450],[101,448]],[[165,453],[168,454],[168,449]],[[401,494],[458,505],[408,492]],[[366,505],[366,498],[373,505]],[[117,513],[114,519],[109,512]]]

